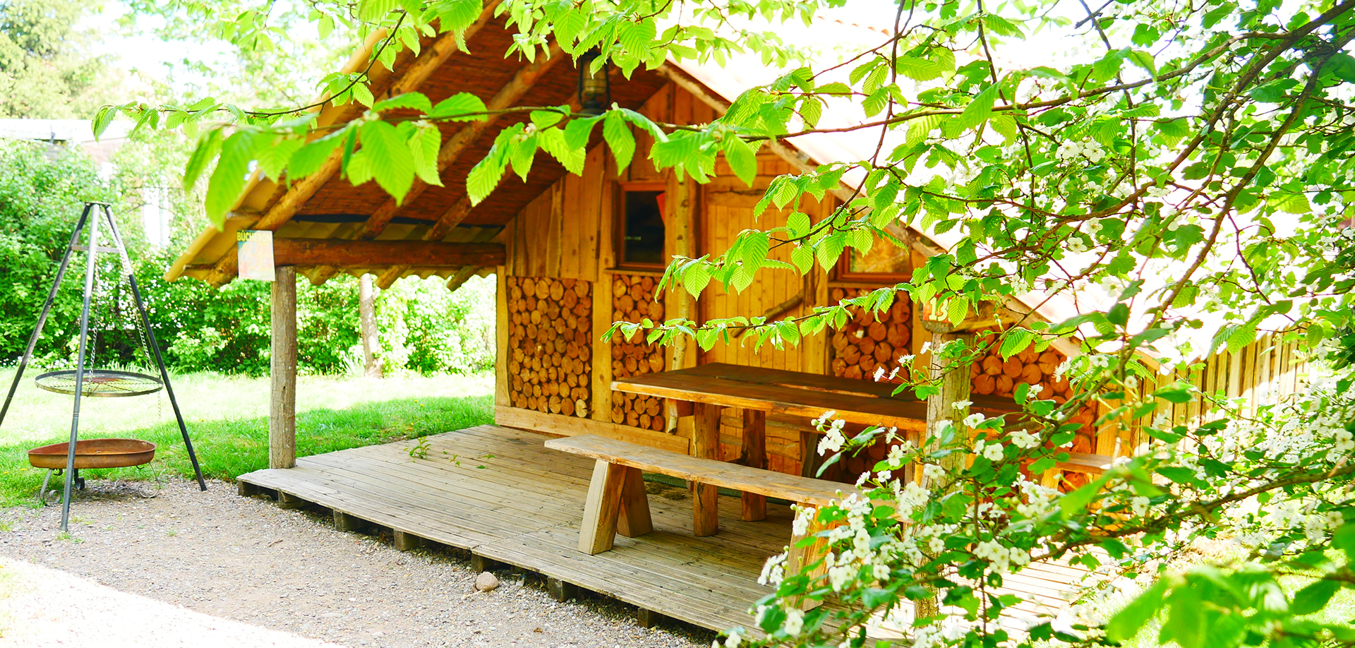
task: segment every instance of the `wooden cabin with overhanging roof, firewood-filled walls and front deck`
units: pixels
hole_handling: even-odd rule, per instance
[[[420,54],[402,53],[394,70],[377,66],[373,72],[374,94],[381,98],[419,91],[438,102],[455,92],[474,92],[491,108],[575,103],[577,70],[573,62],[558,53],[550,58],[538,57],[535,62],[516,57],[503,58],[503,52],[511,42],[509,34],[511,30],[504,27],[501,19],[486,12],[466,34],[467,52],[458,52],[450,37],[430,39]],[[350,70],[359,65],[366,65],[366,52],[354,58]],[[721,80],[720,73],[718,69],[671,62],[656,70],[635,70],[630,79],[614,72],[611,99],[659,122],[705,123],[718,117],[733,98],[729,88],[734,84],[728,77]],[[352,106],[325,106],[320,113],[320,122],[339,123],[359,114],[360,110]],[[821,376],[825,380],[858,380],[864,389],[864,385],[873,385],[871,377],[877,367],[892,370],[902,355],[916,355],[919,366],[925,366],[927,354],[921,350],[932,333],[923,325],[921,309],[906,300],[898,301],[883,316],[859,313],[843,329],[808,336],[798,347],[785,350],[771,346],[755,350],[751,344],[733,343],[699,351],[695,344],[657,347],[642,340],[626,340],[619,335],[599,339],[617,320],[683,316],[703,321],[736,315],[766,315],[772,319],[802,315],[814,305],[836,302],[906,278],[925,259],[927,251],[935,249],[938,244],[916,232],[900,229],[898,236],[916,245],[900,249],[881,244],[869,256],[844,259],[832,272],[822,272],[816,267],[804,278],[793,271],[764,271],[757,283],[741,293],[726,293],[711,285],[699,300],[691,300],[684,291],[657,287],[667,260],[672,255],[720,254],[743,229],[783,225],[786,210],[768,210],[755,218],[755,203],[772,178],[832,161],[831,157],[824,157],[828,155],[824,152],[827,148],[764,148],[757,156],[753,186],[740,182],[722,161],[709,183],[698,184],[656,171],[648,161],[649,141],[644,133],[637,133],[638,148],[627,168],[615,168],[614,159],[600,141],[591,146],[581,176],[566,174],[553,159],[542,155],[526,182],[507,175],[489,198],[472,206],[465,195],[466,174],[486,153],[499,129],[516,119],[522,117],[442,125],[444,140],[439,161],[444,186],[424,186],[416,180],[413,193],[398,206],[374,182],[354,187],[339,178],[335,163],[316,176],[290,186],[256,179],[228,218],[225,229],[203,232],[168,271],[168,279],[194,277],[224,285],[236,277],[236,232],[274,232],[275,262],[279,266],[279,283],[274,290],[275,469],[295,464],[294,449],[286,447],[287,437],[293,434],[287,400],[294,399],[295,393],[291,384],[295,373],[294,320],[290,333],[287,329],[294,293],[289,296],[286,286],[293,271],[317,285],[336,272],[371,272],[383,287],[401,277],[438,275],[447,278],[451,290],[470,275],[493,274],[499,286],[495,422],[504,428],[514,428],[509,437],[519,439],[515,441],[518,445],[520,439],[531,438],[523,437],[522,430],[526,430],[553,437],[596,434],[695,454],[698,449],[694,447],[690,416],[679,416],[683,412],[675,411],[661,399],[612,389],[614,381],[635,376],[718,362],[780,369]],[[806,199],[798,207],[818,220],[831,214],[837,205],[839,198],[829,194],[821,202]],[[789,262],[789,249],[775,251],[774,258]],[[293,358],[290,369],[289,344]],[[1028,382],[1042,385],[1045,393],[1065,394],[1066,381],[1054,377],[1056,369],[1066,358],[1065,351],[1069,350],[1027,351],[1004,361],[995,350],[993,355],[972,369],[970,390],[976,396],[1003,399],[1011,396],[1015,385]],[[1264,401],[1293,392],[1301,370],[1291,346],[1266,338],[1240,352],[1210,357],[1206,369],[1194,378],[1210,392]],[[1177,405],[1173,416],[1187,422],[1199,413],[1201,405],[1195,401]],[[1092,411],[1080,415],[1084,428],[1073,450],[1091,455],[1119,455],[1130,453],[1140,443],[1141,439],[1133,431],[1119,435],[1107,427],[1108,431],[1099,432],[1092,424],[1095,418],[1096,412]],[[718,447],[705,449],[702,453],[726,461],[738,460],[744,451],[747,420],[749,419],[738,409],[725,409],[720,419]],[[766,426],[767,469],[799,474],[812,468],[817,438],[806,416],[772,412],[766,422],[757,424]],[[477,447],[491,447],[486,443]],[[293,453],[291,457],[287,455],[289,451]],[[886,447],[881,445],[871,454],[881,458],[885,451]],[[351,457],[367,457],[356,450],[350,453],[354,453]],[[344,453],[335,453],[336,457],[341,454]],[[587,466],[568,464],[565,460],[569,457],[550,457],[550,453],[545,453],[539,461],[572,466],[561,468],[562,473],[583,470],[579,473],[583,477],[575,477],[587,480]],[[343,488],[335,484],[350,477],[358,480],[355,484],[367,484],[352,487],[358,491],[377,488],[373,480],[362,481],[354,472],[386,474],[393,470],[377,461],[354,461],[343,469],[336,468],[340,464],[325,464],[331,472],[325,473],[324,480],[316,477],[318,481],[308,481],[304,476],[309,473],[302,468],[321,470],[321,462],[306,464],[304,460],[297,469],[266,470],[272,476],[247,476],[245,483],[274,489],[279,498],[321,502],[336,511],[347,507],[348,517],[394,529],[397,541],[402,533],[439,538],[440,542],[461,544],[477,554],[516,561],[547,575],[554,573],[551,569],[565,569],[562,564],[575,563],[575,559],[553,561],[549,552],[537,545],[531,545],[535,546],[531,550],[522,549],[530,545],[524,540],[516,540],[518,545],[508,548],[503,537],[489,531],[481,537],[446,529],[463,525],[462,518],[427,522],[417,530],[401,530],[408,518],[402,514],[388,515],[389,511],[383,508],[394,506],[390,502],[397,499],[396,493],[382,495],[385,499],[381,502],[386,504],[381,506],[352,493],[336,495]],[[844,464],[851,474],[869,465],[866,457]],[[542,469],[541,465],[537,468]],[[1065,474],[1046,476],[1056,481],[1060,477],[1068,485],[1076,485],[1084,479],[1076,466]],[[436,477],[431,473],[417,477],[424,481],[431,479]],[[449,473],[446,479],[447,484],[461,484],[457,480],[462,477]],[[515,495],[504,489],[514,484],[514,480],[504,477],[503,483],[480,498],[512,499]],[[450,485],[447,488],[453,489]],[[524,493],[530,493],[531,488],[554,487],[523,488]],[[406,495],[434,496],[417,492]],[[447,506],[457,510],[465,506],[458,498],[453,498],[453,503]],[[522,498],[531,499],[530,495]],[[561,515],[566,517],[565,512]],[[778,519],[787,523],[789,517],[782,514]],[[439,529],[438,525],[444,527]],[[547,530],[531,533],[549,535]],[[530,533],[523,531],[520,538],[528,535]],[[770,541],[767,548],[775,552],[779,546],[776,542]],[[737,553],[736,549],[729,552]],[[701,553],[703,550],[694,552],[705,556]],[[606,554],[592,559],[600,560],[603,556]],[[764,556],[766,553],[741,569],[756,569]],[[729,578],[726,568],[728,565],[713,568],[709,578]],[[678,607],[665,607],[672,603],[664,603],[665,596],[672,596],[673,588],[682,590],[682,584],[656,586],[652,592],[640,586],[608,590],[591,573],[598,569],[606,572],[604,567],[592,565],[577,572],[562,571],[560,578],[573,579],[577,584],[634,602],[642,609],[648,606],[710,628],[732,622],[747,624],[734,609],[752,598],[733,598],[756,591],[736,588],[737,591],[725,592],[732,607],[718,613],[710,611],[710,601],[698,596],[682,605],[703,609],[706,613],[688,610],[688,614]],[[646,571],[654,567],[645,564],[627,569]]]

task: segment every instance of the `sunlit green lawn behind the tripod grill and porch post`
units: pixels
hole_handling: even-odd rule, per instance
[[[0,506],[34,504],[46,473],[28,465],[31,447],[69,439],[72,397],[38,389],[24,373],[0,423]],[[14,370],[0,371],[0,399]],[[188,435],[207,477],[234,479],[268,465],[268,378],[172,376]],[[91,479],[191,477],[173,409],[164,392],[126,399],[81,399],[80,438],[129,437],[154,442],[150,464],[81,470]],[[492,376],[340,378],[302,376],[297,386],[297,454],[446,432],[493,420]]]

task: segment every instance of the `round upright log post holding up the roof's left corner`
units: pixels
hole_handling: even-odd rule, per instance
[[[272,283],[272,397],[268,468],[297,465],[297,267],[279,266]]]

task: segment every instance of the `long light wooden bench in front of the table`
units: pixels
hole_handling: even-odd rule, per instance
[[[859,493],[851,485],[836,481],[691,457],[592,434],[550,439],[546,447],[598,460],[579,533],[579,550],[588,554],[611,549],[617,533],[634,538],[653,530],[642,472],[669,474],[709,484],[713,488],[725,487],[816,507],[840,502],[854,492]],[[717,519],[718,511],[713,500],[707,503],[703,498],[692,498],[692,530],[696,535],[713,535],[718,530]],[[810,525],[806,535],[821,529],[822,526]],[[817,560],[827,545],[820,540],[812,546],[797,548],[799,540],[801,537],[791,537],[787,573],[794,573],[801,565]]]

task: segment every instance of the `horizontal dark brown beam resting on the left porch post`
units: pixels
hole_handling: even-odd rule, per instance
[[[337,239],[274,239],[276,266],[335,266],[370,268],[408,263],[411,267],[497,266],[504,247],[497,243],[346,241]]]

